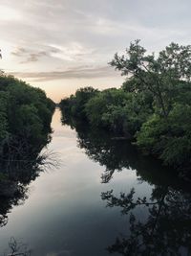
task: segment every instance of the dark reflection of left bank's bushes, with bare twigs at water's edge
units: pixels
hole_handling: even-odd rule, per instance
[[[28,198],[32,180],[46,169],[58,165],[56,154],[41,150],[42,145],[33,147],[31,153],[23,153],[22,158],[0,161],[0,227],[8,223],[12,207],[23,204]]]

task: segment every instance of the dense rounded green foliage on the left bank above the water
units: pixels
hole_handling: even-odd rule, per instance
[[[44,91],[0,75],[0,164],[16,166],[35,158],[50,140],[53,101]]]

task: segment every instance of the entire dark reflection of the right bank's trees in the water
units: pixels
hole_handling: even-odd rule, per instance
[[[63,123],[68,123],[66,120]],[[191,195],[189,184],[174,170],[161,167],[159,161],[139,154],[127,141],[112,138],[104,130],[84,128],[72,123],[78,136],[78,146],[100,165],[105,166],[102,182],[111,180],[122,169],[136,170],[140,181],[153,185],[150,197],[138,198],[135,188],[129,194],[114,191],[101,194],[108,207],[119,207],[129,216],[127,235],[117,236],[108,247],[110,253],[121,255],[191,255]],[[145,217],[139,218],[138,211]]]

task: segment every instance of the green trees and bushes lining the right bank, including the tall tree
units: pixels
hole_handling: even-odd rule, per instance
[[[191,164],[191,46],[171,43],[148,55],[139,40],[110,62],[126,81],[119,89],[79,89],[60,106],[65,120],[106,128],[188,175]]]

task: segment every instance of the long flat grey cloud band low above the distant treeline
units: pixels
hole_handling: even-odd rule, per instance
[[[53,81],[70,79],[96,79],[117,77],[114,68],[110,66],[78,66],[63,71],[51,72],[11,72],[11,75],[21,79],[32,79],[33,81]]]

